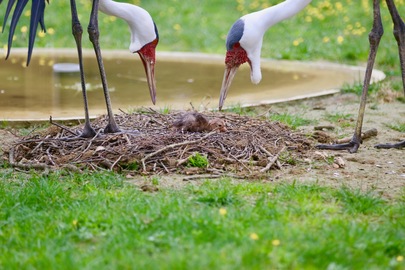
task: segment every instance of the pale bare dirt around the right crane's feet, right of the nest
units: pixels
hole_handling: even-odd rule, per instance
[[[385,94],[384,94],[385,93]],[[373,191],[385,197],[404,194],[405,149],[376,149],[378,143],[405,140],[405,134],[387,125],[405,124],[405,104],[396,101],[391,91],[380,91],[378,96],[369,98],[363,131],[377,129],[377,136],[363,141],[357,153],[347,151],[313,150],[319,153],[319,162],[302,163],[300,166],[275,172],[276,181],[317,182],[327,186],[348,186],[363,191]],[[395,95],[401,95],[396,92]],[[325,131],[334,138],[347,138],[353,135],[358,114],[359,97],[353,94],[336,94],[329,97],[308,99],[271,107],[273,112],[298,114],[311,119],[308,126],[300,127],[304,133],[315,132],[314,126],[332,126]],[[267,108],[263,108],[267,109]],[[330,120],[331,115],[341,115],[341,119]],[[322,158],[325,162],[321,162]],[[345,165],[336,168],[328,160],[341,158]]]

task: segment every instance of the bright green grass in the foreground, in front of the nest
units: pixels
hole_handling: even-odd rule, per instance
[[[0,176],[2,269],[405,267],[405,197],[228,179],[142,193],[113,173]]]

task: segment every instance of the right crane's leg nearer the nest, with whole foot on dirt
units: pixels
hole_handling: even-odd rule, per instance
[[[344,144],[319,144],[316,146],[318,149],[328,149],[328,150],[348,150],[350,153],[355,153],[359,149],[361,144],[361,129],[363,126],[364,112],[366,108],[367,92],[370,86],[371,73],[373,71],[373,66],[375,62],[375,57],[377,55],[378,45],[380,44],[381,37],[384,33],[381,13],[380,13],[380,0],[373,0],[373,28],[369,34],[370,42],[370,52],[367,60],[366,73],[364,75],[363,90],[360,99],[359,114],[357,116],[356,128],[353,137],[349,143]]]

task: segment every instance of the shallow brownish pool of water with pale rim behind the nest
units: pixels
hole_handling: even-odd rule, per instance
[[[90,114],[104,114],[105,101],[94,54],[85,51],[84,56]],[[190,103],[196,109],[218,106],[224,72],[222,56],[158,53],[156,106],[150,100],[144,69],[137,54],[106,51],[103,56],[115,112],[141,106],[190,109]],[[82,118],[79,73],[53,71],[56,63],[77,63],[75,50],[47,52],[36,49],[28,68],[25,60],[26,51],[15,49],[10,59],[0,60],[0,119]],[[263,80],[259,85],[253,85],[249,72],[248,65],[240,68],[225,107],[329,93],[344,83],[360,80],[364,74],[361,68],[263,61]]]

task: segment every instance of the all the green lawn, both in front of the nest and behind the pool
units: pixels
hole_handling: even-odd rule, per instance
[[[158,50],[224,55],[236,19],[278,2],[131,3],[152,14]],[[404,0],[395,2],[405,15]],[[384,83],[402,91],[382,5],[385,35],[376,66],[388,75]],[[85,28],[91,1],[78,1],[78,8]],[[36,47],[73,48],[69,2],[51,0],[46,9],[48,32],[38,35]],[[27,44],[27,15],[16,47]],[[371,22],[371,0],[313,0],[267,32],[262,57],[363,65]],[[125,22],[100,14],[100,31],[102,49],[128,48]],[[0,46],[6,44],[4,33]],[[305,120],[280,117],[294,128]],[[404,130],[402,123],[395,127]],[[152,180],[159,184],[158,176]],[[21,173],[0,160],[0,269],[405,269],[404,239],[405,192],[385,200],[349,188],[223,178],[150,193],[116,173]]]

